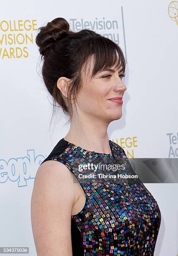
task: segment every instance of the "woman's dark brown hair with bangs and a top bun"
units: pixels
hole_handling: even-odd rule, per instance
[[[90,29],[78,32],[70,31],[69,23],[64,18],[55,18],[46,26],[38,28],[36,44],[43,58],[42,75],[44,83],[53,97],[53,114],[57,105],[66,115],[72,118],[73,111],[70,100],[74,100],[82,87],[83,69],[88,60],[94,57],[92,76],[104,69],[122,67],[125,73],[125,58],[118,44]],[[57,87],[60,77],[71,79],[68,97],[64,98]],[[76,108],[76,105],[75,105]],[[53,115],[52,115],[53,117]]]

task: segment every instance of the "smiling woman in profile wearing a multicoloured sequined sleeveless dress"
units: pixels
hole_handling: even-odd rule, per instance
[[[45,85],[70,118],[68,134],[35,177],[31,220],[38,256],[153,255],[161,215],[143,183],[85,182],[78,175],[79,164],[128,160],[107,133],[122,116],[127,89],[122,50],[93,31],[70,31],[63,18],[40,28],[36,43]]]

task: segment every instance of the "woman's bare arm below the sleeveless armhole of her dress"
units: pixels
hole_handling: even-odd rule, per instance
[[[39,168],[31,197],[31,222],[38,256],[72,256],[73,174],[49,160]]]

